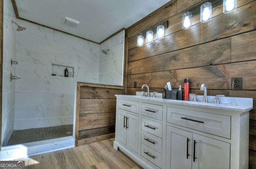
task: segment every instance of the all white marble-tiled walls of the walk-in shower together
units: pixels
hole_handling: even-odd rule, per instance
[[[76,82],[122,86],[123,55],[124,31],[99,45],[18,20],[4,0],[2,146],[14,130],[73,124]],[[64,77],[65,68],[73,76]],[[11,82],[10,73],[20,79]]]

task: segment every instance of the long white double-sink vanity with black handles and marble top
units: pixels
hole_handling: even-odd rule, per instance
[[[213,104],[115,96],[114,149],[143,168],[248,169],[252,98]]]

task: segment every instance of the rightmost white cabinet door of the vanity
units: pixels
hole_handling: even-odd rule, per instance
[[[230,168],[229,143],[193,134],[193,152],[194,150],[196,159],[195,162],[194,157],[192,159],[192,169]]]

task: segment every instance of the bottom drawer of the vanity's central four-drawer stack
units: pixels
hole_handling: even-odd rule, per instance
[[[158,167],[162,167],[162,154],[156,150],[141,144],[140,155]]]

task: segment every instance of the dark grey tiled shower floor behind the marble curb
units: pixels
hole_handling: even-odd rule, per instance
[[[14,130],[7,145],[62,138],[73,135],[73,125]]]

